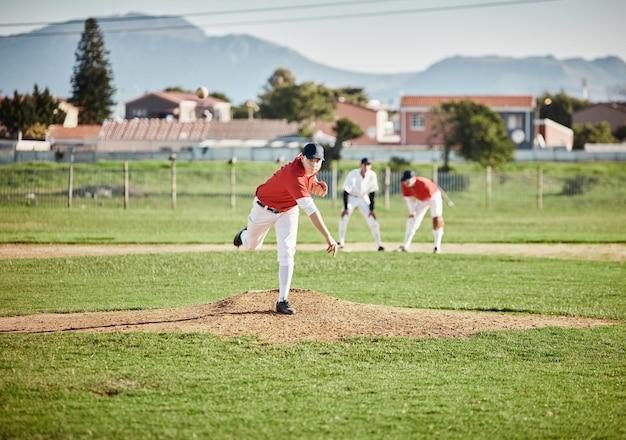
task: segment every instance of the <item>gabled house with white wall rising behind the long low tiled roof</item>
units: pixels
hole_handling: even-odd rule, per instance
[[[230,103],[193,93],[151,92],[126,102],[126,119],[159,118],[193,122],[208,119],[230,121]]]

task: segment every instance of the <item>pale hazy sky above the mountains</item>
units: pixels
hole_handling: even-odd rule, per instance
[[[346,0],[356,1],[356,0]],[[294,17],[363,14],[497,0],[386,0],[339,5],[342,0],[0,0],[0,23],[64,21],[141,12],[185,14],[288,5],[316,9],[189,17],[197,25]],[[204,28],[207,35],[251,34],[334,67],[364,72],[416,71],[452,55],[626,59],[626,0],[555,0],[468,10],[376,15],[366,18]],[[145,26],[146,22],[141,23]],[[130,26],[137,26],[133,23]],[[0,35],[35,29],[2,27]]]

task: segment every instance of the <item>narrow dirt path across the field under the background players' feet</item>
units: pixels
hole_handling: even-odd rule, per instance
[[[398,247],[387,244],[388,250]],[[322,244],[299,244],[298,251],[322,251]],[[273,245],[264,250],[274,249]],[[374,251],[372,243],[350,243],[342,252]],[[417,243],[412,252],[428,253],[430,244]],[[0,260],[16,258],[59,258],[73,256],[236,251],[232,244],[0,244]],[[571,260],[626,261],[626,244],[509,244],[509,243],[447,243],[447,254],[512,255]],[[241,252],[241,251],[239,251]]]

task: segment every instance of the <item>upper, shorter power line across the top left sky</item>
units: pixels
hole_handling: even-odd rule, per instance
[[[205,12],[190,12],[186,14],[173,14],[173,15],[145,15],[145,16],[126,16],[126,17],[103,17],[99,18],[98,22],[118,22],[118,21],[144,21],[144,20],[161,20],[170,18],[184,18],[184,17],[205,17],[211,15],[236,15],[236,14],[249,14],[256,12],[273,12],[273,11],[290,11],[298,9],[318,9],[336,6],[351,6],[366,3],[388,3],[390,1],[409,1],[409,0],[357,0],[357,1],[338,1],[329,3],[316,3],[316,4],[304,4],[304,5],[288,5],[288,6],[271,6],[266,8],[250,8],[250,9],[225,9],[221,11],[205,11]],[[84,23],[85,19],[76,19],[62,22],[52,21],[22,21],[15,23],[0,23],[0,27],[20,27],[20,26],[46,26],[46,25],[64,25],[74,23]]]

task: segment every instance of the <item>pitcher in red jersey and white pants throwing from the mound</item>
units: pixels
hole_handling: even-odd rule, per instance
[[[318,144],[307,144],[302,154],[276,171],[256,189],[248,226],[235,235],[233,244],[244,249],[257,250],[263,245],[272,225],[276,230],[278,250],[278,302],[276,311],[286,315],[296,313],[287,298],[294,269],[294,255],[298,236],[300,211],[307,213],[313,225],[322,234],[327,252],[335,255],[337,243],[324,224],[311,194],[325,196],[328,186],[317,180],[317,173],[324,160],[324,149]]]

